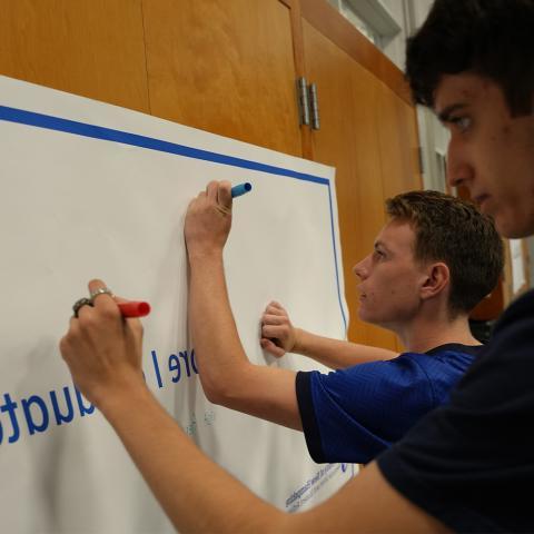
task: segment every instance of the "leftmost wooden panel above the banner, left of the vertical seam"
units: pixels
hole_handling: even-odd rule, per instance
[[[148,112],[140,0],[0,0],[0,73]]]

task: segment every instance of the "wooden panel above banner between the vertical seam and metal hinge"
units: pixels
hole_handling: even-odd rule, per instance
[[[290,8],[145,0],[152,115],[300,156]]]

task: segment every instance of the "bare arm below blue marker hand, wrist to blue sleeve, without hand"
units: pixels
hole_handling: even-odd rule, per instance
[[[190,255],[189,320],[206,396],[216,404],[301,429],[295,372],[253,365],[231,313],[221,254]]]

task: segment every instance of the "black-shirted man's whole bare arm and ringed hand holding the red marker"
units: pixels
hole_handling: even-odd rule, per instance
[[[102,285],[93,280],[90,290]],[[115,428],[179,532],[445,532],[395,492],[374,464],[309,512],[286,514],[261,501],[207,458],[151,395],[142,378],[141,343],[139,320],[125,320],[102,294],[71,319],[60,349],[75,384]]]

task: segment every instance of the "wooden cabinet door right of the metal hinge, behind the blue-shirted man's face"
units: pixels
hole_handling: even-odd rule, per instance
[[[353,342],[395,349],[395,336],[357,318],[353,266],[373,250],[384,225],[384,189],[376,121],[380,82],[349,55],[303,21],[306,76],[317,83],[320,130],[314,159],[336,167],[336,191]]]

